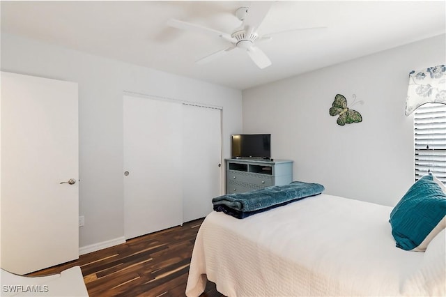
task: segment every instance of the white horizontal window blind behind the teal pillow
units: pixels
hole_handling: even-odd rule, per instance
[[[446,105],[427,103],[414,112],[415,181],[432,172],[446,183]]]

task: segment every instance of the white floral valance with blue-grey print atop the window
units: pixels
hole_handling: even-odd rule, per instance
[[[444,65],[413,70],[409,73],[406,116],[424,103],[446,104],[446,67]]]

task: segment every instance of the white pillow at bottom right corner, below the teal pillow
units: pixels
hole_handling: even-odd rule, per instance
[[[404,296],[445,296],[445,259],[446,229],[443,229],[427,246],[420,268],[404,280],[401,294]]]

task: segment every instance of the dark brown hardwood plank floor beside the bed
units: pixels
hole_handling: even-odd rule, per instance
[[[203,219],[132,238],[76,261],[31,273],[48,275],[79,265],[91,297],[185,296],[190,257]],[[201,297],[224,297],[208,282]]]

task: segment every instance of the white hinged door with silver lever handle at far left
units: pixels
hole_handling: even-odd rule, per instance
[[[77,84],[1,73],[1,268],[79,257]],[[73,178],[75,183],[61,183]]]

